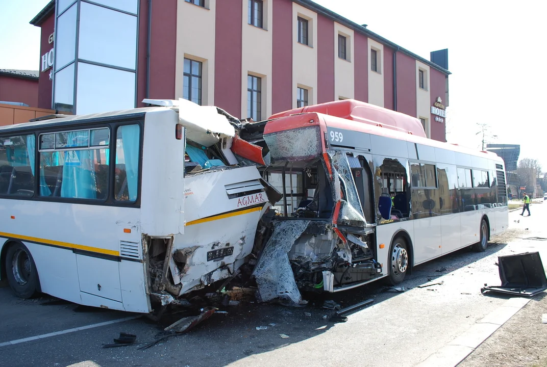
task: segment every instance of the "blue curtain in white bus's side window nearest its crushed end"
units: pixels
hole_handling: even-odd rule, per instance
[[[119,129],[123,140],[127,191],[129,191],[129,200],[134,202],[137,199],[138,153],[141,129],[138,125],[121,126]],[[118,163],[118,157],[116,163]]]

